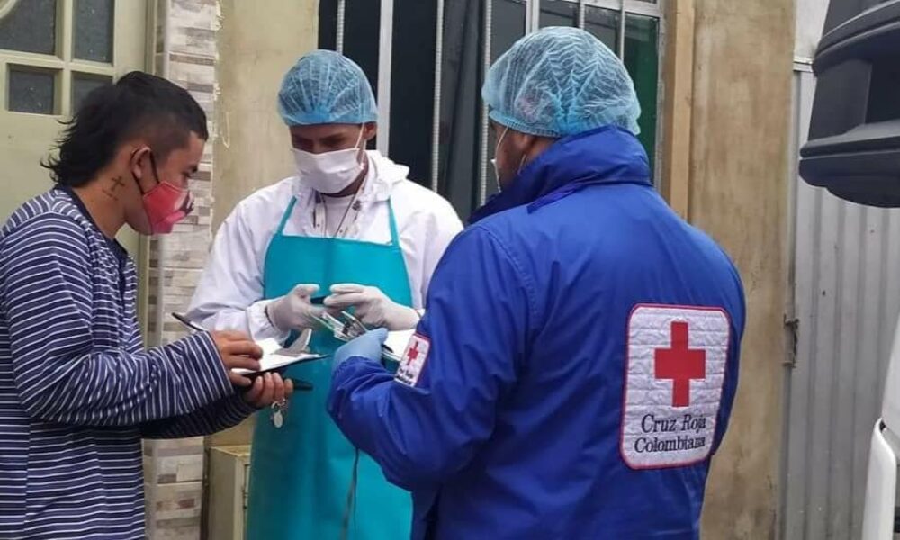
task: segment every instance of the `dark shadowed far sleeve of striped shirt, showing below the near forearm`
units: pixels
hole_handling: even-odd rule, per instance
[[[211,435],[223,429],[233,428],[257,412],[239,394],[233,394],[211,405],[172,419],[147,422],[140,428],[146,438],[180,438]]]

